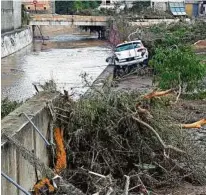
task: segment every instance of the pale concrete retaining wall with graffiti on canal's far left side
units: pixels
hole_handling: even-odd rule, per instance
[[[1,35],[1,58],[6,57],[32,43],[32,28],[14,30]]]

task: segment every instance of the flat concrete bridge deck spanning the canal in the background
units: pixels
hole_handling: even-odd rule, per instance
[[[30,25],[74,25],[74,26],[106,26],[110,17],[36,14],[31,16]]]

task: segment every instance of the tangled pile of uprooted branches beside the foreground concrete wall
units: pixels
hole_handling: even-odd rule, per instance
[[[87,194],[148,194],[182,180],[205,183],[204,151],[177,125],[185,121],[172,114],[170,98],[142,100],[137,92],[78,102],[62,97],[55,110],[67,151],[64,178]]]

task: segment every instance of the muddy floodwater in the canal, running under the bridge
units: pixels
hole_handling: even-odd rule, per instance
[[[94,81],[107,66],[109,49],[96,37],[58,35],[50,40],[35,41],[23,50],[1,59],[2,99],[24,101],[32,97],[34,84],[54,80],[59,90],[82,94],[81,74]]]

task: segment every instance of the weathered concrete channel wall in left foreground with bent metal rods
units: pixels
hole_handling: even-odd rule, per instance
[[[17,140],[27,150],[33,151],[41,162],[48,165],[49,157],[45,142],[21,113],[31,114],[30,118],[33,123],[49,139],[51,118],[46,103],[55,102],[58,97],[58,94],[55,93],[41,92],[10,113],[1,122],[1,170],[26,190],[30,190],[36,182],[35,168],[29,163],[29,160],[25,160],[26,153],[23,157],[19,146],[8,141],[4,134]],[[38,174],[41,179],[40,172]],[[23,193],[2,177],[1,194],[19,195]]]

